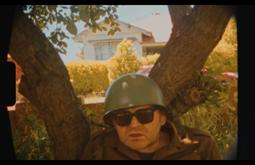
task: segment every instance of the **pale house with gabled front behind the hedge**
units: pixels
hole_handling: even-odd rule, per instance
[[[145,54],[160,51],[166,42],[156,42],[152,32],[138,26],[117,20],[120,32],[113,36],[107,35],[107,31],[92,32],[86,29],[74,37],[75,42],[84,45],[84,57],[86,60],[107,60],[114,55],[117,45],[124,39],[133,41],[136,54],[141,57]]]

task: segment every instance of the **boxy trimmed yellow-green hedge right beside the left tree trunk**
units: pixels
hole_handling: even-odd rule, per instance
[[[103,62],[81,60],[68,64],[67,70],[77,95],[101,93],[109,85],[108,69]]]

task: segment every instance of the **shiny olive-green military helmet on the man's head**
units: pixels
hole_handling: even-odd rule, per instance
[[[106,91],[104,121],[109,124],[109,116],[113,111],[142,105],[155,105],[166,109],[161,89],[144,75],[122,75]]]

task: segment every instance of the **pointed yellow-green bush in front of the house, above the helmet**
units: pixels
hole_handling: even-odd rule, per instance
[[[142,66],[134,50],[132,41],[124,39],[119,43],[117,52],[108,61],[110,81],[130,72],[136,72]]]

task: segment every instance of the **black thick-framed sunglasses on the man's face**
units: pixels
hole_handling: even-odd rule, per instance
[[[136,119],[141,123],[141,124],[146,124],[150,123],[153,120],[154,117],[154,111],[158,110],[155,107],[149,107],[149,108],[144,108],[141,110],[138,110],[134,113],[131,113],[127,110],[121,110],[118,112],[114,112],[112,119],[119,125],[119,126],[129,126],[131,123],[131,120],[133,116],[136,117]]]

